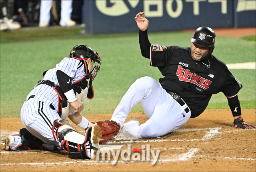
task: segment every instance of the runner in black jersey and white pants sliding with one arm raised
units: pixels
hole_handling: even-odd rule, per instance
[[[156,138],[182,127],[206,109],[212,94],[223,92],[234,117],[235,128],[255,128],[242,118],[238,92],[243,85],[214,50],[215,33],[211,28],[196,29],[191,47],[160,46],[148,40],[148,20],[144,12],[136,15],[142,56],[164,76],[159,82],[150,77],[136,80],[123,96],[111,118],[137,138]],[[146,116],[144,124],[132,120],[124,124],[128,112],[140,102]]]

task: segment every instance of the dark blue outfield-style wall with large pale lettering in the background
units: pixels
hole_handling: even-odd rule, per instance
[[[150,32],[255,27],[255,0],[84,1],[87,34],[138,32],[134,17],[145,12]]]

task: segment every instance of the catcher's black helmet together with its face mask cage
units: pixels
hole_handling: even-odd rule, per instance
[[[94,78],[97,75],[97,72],[100,71],[101,65],[100,54],[96,50],[92,50],[92,48],[88,47],[87,45],[76,45],[71,50],[69,56],[70,58],[76,58],[78,60],[86,60],[88,58],[94,60],[94,68],[92,68],[91,71],[91,80],[94,80]],[[97,66],[95,62],[98,63]]]

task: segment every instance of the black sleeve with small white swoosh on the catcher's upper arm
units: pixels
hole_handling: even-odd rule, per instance
[[[58,82],[60,84],[60,89],[64,93],[66,93],[69,90],[73,89],[73,86],[72,86],[73,78],[70,78],[67,74],[65,74],[61,70],[57,70],[56,74],[57,74]]]

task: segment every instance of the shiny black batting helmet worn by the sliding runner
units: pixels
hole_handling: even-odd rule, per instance
[[[191,38],[191,42],[200,46],[209,47],[209,52],[202,56],[206,60],[214,50],[215,32],[206,26],[197,28]]]

